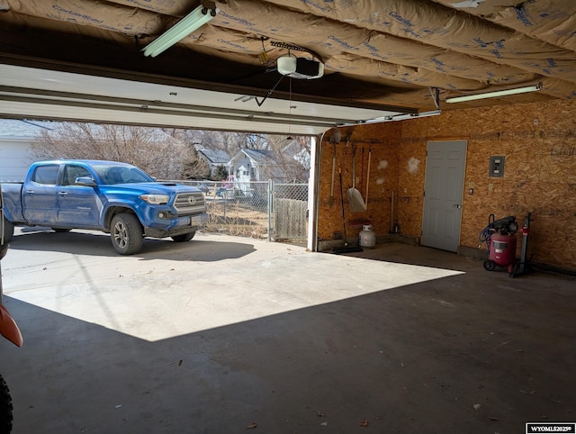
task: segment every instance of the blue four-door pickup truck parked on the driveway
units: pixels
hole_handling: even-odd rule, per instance
[[[100,160],[33,163],[23,183],[2,184],[4,242],[14,226],[111,234],[121,255],[138,253],[143,237],[193,239],[208,221],[196,187],[156,182],[138,167]]]

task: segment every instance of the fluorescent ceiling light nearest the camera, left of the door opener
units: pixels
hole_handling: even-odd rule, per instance
[[[208,23],[220,10],[207,9],[200,5],[190,14],[184,16],[182,20],[175,23],[166,32],[157,37],[155,41],[150,42],[144,49],[144,56],[157,57],[158,54],[172,47],[176,42],[182,41],[190,33],[200,29],[202,25]]]

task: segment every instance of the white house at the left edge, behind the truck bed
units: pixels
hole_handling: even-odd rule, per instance
[[[35,160],[33,141],[50,122],[0,119],[0,182],[22,182]]]

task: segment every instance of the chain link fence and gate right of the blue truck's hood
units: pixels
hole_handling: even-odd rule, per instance
[[[267,240],[303,241],[308,229],[308,184],[273,181],[170,181],[206,195],[204,231]]]

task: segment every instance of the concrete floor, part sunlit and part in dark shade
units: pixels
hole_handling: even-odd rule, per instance
[[[517,434],[576,420],[565,277],[399,244],[342,256],[201,233],[120,257],[89,231],[18,234],[2,269],[24,336],[0,341],[16,434]]]

